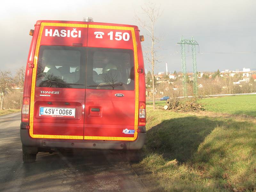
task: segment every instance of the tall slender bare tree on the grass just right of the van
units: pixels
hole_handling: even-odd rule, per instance
[[[159,43],[160,39],[156,37],[154,31],[155,31],[155,24],[156,21],[161,16],[160,8],[156,7],[156,4],[148,3],[145,5],[145,7],[141,6],[142,14],[146,15],[147,20],[141,20],[140,17],[135,13],[135,19],[138,20],[139,25],[142,28],[145,28],[148,33],[146,34],[151,44],[147,47],[147,51],[144,52],[144,57],[148,62],[151,64],[151,70],[152,70],[152,89],[153,89],[153,109],[155,109],[155,85],[154,85],[154,67],[156,62],[159,62],[157,60],[156,56],[156,47],[155,45]]]

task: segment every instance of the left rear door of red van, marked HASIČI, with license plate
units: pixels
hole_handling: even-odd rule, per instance
[[[33,138],[84,139],[87,27],[41,23],[31,85]]]

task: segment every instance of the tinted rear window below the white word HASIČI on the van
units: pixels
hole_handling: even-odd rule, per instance
[[[36,86],[85,88],[85,47],[41,45]]]

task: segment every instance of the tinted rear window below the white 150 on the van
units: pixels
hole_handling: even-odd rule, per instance
[[[88,47],[86,88],[134,90],[133,50]]]

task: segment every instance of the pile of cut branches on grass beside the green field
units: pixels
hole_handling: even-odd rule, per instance
[[[173,97],[166,101],[164,109],[177,112],[199,112],[204,111],[204,104],[198,102],[202,97],[196,96],[191,98]]]

